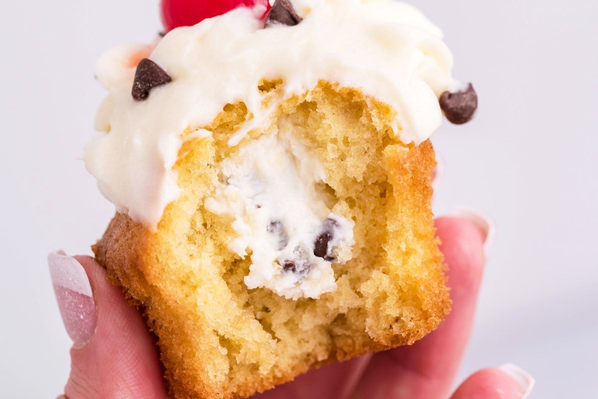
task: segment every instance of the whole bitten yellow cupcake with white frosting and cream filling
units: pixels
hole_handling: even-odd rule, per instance
[[[440,123],[438,98],[454,86],[450,53],[421,14],[392,0],[299,3],[310,7],[295,7],[303,17],[297,26],[263,29],[255,12],[234,10],[168,33],[136,77],[135,67],[99,74],[110,91],[98,118],[106,133],[87,148],[86,165],[118,212],[93,250],[143,309],[174,398],[246,398],[322,364],[410,345],[449,312],[428,138]],[[215,75],[206,82],[199,78],[205,71],[180,68],[197,65],[190,51],[223,60],[231,51],[239,68],[254,61],[255,54],[210,44],[212,33],[233,24],[230,41],[248,40],[264,59],[269,51],[281,56],[285,47],[266,35],[298,44],[306,32],[329,29],[322,21],[334,25],[327,13],[341,8],[338,36],[347,19],[358,18],[355,35],[367,45],[386,43],[382,33],[400,36],[392,45],[399,54],[416,51],[417,68],[392,78],[392,60],[371,67],[392,48],[357,48],[355,60],[381,58],[347,63],[334,78],[324,68],[340,63],[322,66],[318,51],[334,47],[344,56],[343,44],[353,45],[346,35],[319,42],[319,50],[312,45],[319,62],[311,69],[309,62],[268,69],[273,63],[264,61],[234,81],[245,72],[209,65]],[[390,25],[372,32],[378,19]],[[287,58],[302,50],[295,46]],[[100,69],[138,52],[120,48]],[[184,62],[173,60],[179,53]],[[157,84],[142,84],[144,68]],[[301,70],[317,73],[306,78]],[[405,71],[414,85],[408,90]],[[133,81],[141,90],[135,99]],[[400,96],[380,82],[395,84]],[[227,98],[228,84],[240,92]]]

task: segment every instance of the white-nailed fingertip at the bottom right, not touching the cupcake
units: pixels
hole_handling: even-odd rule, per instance
[[[534,385],[526,371],[512,364],[501,368],[484,368],[469,376],[451,399],[525,399]]]

